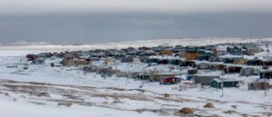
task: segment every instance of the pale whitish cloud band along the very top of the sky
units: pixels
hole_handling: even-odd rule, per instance
[[[1,0],[0,14],[271,12],[271,0]]]

